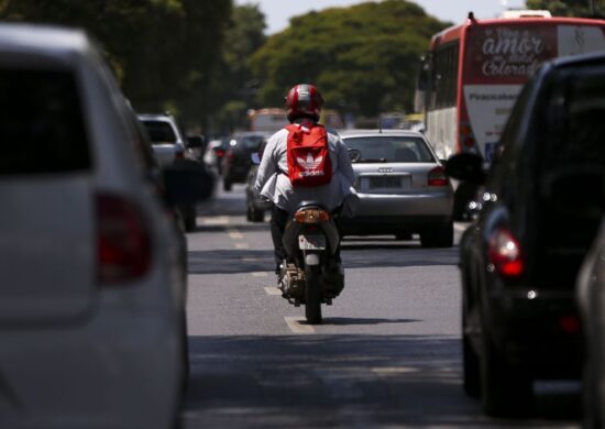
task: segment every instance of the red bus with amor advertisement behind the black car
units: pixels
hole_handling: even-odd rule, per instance
[[[472,151],[488,165],[517,95],[540,63],[605,50],[604,20],[524,12],[485,20],[469,13],[464,23],[432,36],[416,110],[425,112],[426,134],[440,158]],[[469,196],[457,195],[454,211],[461,198]]]

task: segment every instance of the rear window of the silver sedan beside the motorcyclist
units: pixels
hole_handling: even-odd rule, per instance
[[[421,138],[372,135],[345,138],[349,150],[360,152],[358,163],[431,163],[435,161]]]

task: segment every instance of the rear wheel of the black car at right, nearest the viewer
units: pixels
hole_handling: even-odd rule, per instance
[[[483,411],[492,417],[527,416],[534,406],[531,378],[522,369],[507,362],[482,327],[480,358]]]

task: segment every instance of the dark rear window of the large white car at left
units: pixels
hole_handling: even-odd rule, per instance
[[[0,175],[90,168],[73,73],[0,69]]]

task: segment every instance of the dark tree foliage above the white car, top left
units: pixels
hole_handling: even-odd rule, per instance
[[[231,0],[3,0],[0,18],[84,28],[138,110],[199,122]]]

